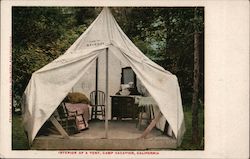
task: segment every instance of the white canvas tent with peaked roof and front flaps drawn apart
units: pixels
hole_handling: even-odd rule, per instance
[[[185,125],[176,76],[147,58],[124,34],[108,8],[102,10],[63,55],[32,74],[23,102],[23,123],[29,142],[32,143],[45,121],[81,79],[91,81],[88,78],[97,58],[106,59],[99,60],[106,63],[101,72],[108,75],[101,76],[104,79],[100,81],[104,81],[103,89],[109,95],[119,89],[120,75],[117,72],[120,68],[130,66],[133,69],[180,143]],[[88,89],[92,89],[89,86]]]

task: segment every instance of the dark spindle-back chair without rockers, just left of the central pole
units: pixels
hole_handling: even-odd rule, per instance
[[[90,93],[90,106],[92,106],[91,119],[97,119],[98,115],[105,117],[105,93],[98,90]]]

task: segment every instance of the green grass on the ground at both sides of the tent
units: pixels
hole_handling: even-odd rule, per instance
[[[184,118],[186,132],[183,137],[182,144],[177,150],[204,150],[204,111],[199,110],[199,136],[200,143],[195,145],[192,143],[192,112],[190,108],[184,107]],[[201,108],[201,107],[200,107]],[[22,119],[20,115],[13,115],[12,121],[12,149],[27,150],[29,149],[28,140],[22,127]]]

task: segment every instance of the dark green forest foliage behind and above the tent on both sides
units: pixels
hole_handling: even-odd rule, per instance
[[[63,54],[87,29],[101,9],[12,8],[14,107],[20,107],[21,96],[31,74]],[[190,110],[193,93],[193,34],[195,31],[200,33],[199,101],[203,105],[204,8],[196,8],[196,17],[195,8],[113,7],[111,11],[126,35],[146,56],[177,75],[186,110]]]

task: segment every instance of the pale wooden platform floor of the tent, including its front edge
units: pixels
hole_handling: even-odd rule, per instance
[[[99,149],[99,150],[146,150],[176,148],[176,139],[153,128],[144,139],[139,139],[146,127],[137,126],[135,120],[110,120],[108,138],[105,138],[105,121],[89,121],[89,129],[63,138],[59,134],[37,136],[32,149]]]

